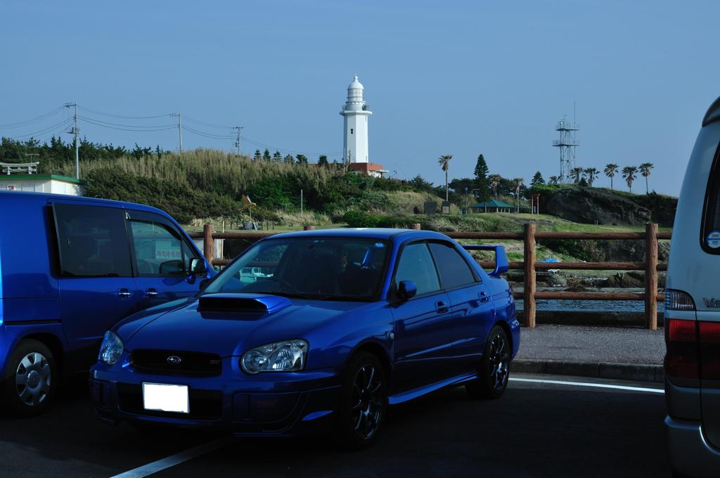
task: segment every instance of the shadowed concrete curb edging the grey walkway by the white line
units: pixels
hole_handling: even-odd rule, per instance
[[[510,371],[526,374],[587,376],[594,379],[634,380],[662,383],[665,372],[657,364],[616,364],[516,358]]]

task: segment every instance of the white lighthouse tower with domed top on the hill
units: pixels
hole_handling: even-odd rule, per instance
[[[343,159],[348,163],[369,163],[367,118],[372,114],[363,99],[364,87],[355,75],[348,86],[348,101],[340,114],[344,118]]]

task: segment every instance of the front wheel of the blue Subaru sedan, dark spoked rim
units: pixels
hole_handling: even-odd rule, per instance
[[[336,435],[343,448],[372,446],[387,410],[387,375],[372,353],[356,353],[343,374]]]

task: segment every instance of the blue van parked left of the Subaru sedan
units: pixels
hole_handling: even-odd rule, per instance
[[[0,392],[45,410],[126,315],[196,294],[214,275],[165,212],[127,202],[0,191]]]

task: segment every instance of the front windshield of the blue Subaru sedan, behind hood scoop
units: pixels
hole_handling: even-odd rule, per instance
[[[365,238],[264,240],[203,291],[322,300],[370,300],[382,285],[387,243]]]

